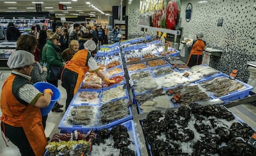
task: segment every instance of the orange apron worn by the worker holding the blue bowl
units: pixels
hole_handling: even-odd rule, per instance
[[[23,105],[15,98],[12,94],[14,78],[15,75],[9,76],[2,86],[1,120],[10,126],[22,127],[35,155],[42,156],[48,143],[41,123],[40,108]]]

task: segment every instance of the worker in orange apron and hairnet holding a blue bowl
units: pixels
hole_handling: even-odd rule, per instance
[[[41,93],[30,83],[34,60],[34,55],[27,51],[12,53],[7,65],[14,70],[1,92],[2,135],[19,148],[22,156],[42,156],[47,145],[40,108],[49,105],[53,91],[45,89]]]

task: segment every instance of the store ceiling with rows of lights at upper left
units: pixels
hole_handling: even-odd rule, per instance
[[[5,2],[17,2],[14,4],[5,3]],[[35,4],[32,2],[44,2],[41,4],[42,12],[52,12],[57,16],[74,16],[75,14],[79,14],[82,16],[95,14],[97,17],[101,15],[101,17],[106,17],[105,14],[112,14],[112,6],[119,6],[120,0],[37,0],[37,1],[28,1],[28,0],[0,0],[0,12],[36,12]],[[60,2],[71,2],[70,4],[63,4],[67,6],[67,10],[59,10]],[[100,9],[105,14],[100,13],[98,10],[86,4],[86,2],[90,2],[93,6]],[[14,9],[17,7],[17,9]],[[45,8],[46,7],[46,8]],[[53,8],[50,8],[53,7]],[[95,13],[93,13],[95,12]]]

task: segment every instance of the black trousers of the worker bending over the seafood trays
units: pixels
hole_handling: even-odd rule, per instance
[[[75,84],[77,83],[77,77],[78,77],[77,73],[72,72],[67,68],[65,68],[62,73],[61,86],[65,88],[67,92],[66,110],[67,110],[67,107],[69,107],[69,104],[74,97],[74,89],[75,89]]]

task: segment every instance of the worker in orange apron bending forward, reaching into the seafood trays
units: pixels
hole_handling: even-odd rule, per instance
[[[114,80],[109,80],[103,72],[100,72],[98,65],[93,59],[90,52],[96,49],[96,44],[89,39],[83,44],[85,49],[77,51],[72,59],[67,62],[61,75],[61,85],[67,91],[66,110],[69,107],[75,92],[79,89],[80,84],[85,78],[85,73],[89,70],[95,72],[103,81],[115,83]]]

